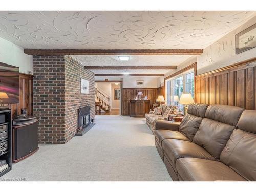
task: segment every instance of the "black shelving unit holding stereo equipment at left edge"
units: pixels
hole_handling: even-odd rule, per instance
[[[7,172],[9,172],[12,169],[12,116],[11,116],[11,110],[0,110],[0,114],[5,115],[5,123],[1,123],[0,126],[2,125],[8,125],[8,138],[4,140],[0,140],[0,143],[4,141],[8,141],[8,150],[0,154],[0,160],[6,160],[9,168],[3,170],[0,172],[0,177],[5,175]]]

